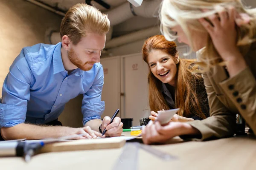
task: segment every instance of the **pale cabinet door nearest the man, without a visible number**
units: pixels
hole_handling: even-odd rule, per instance
[[[121,117],[120,109],[120,57],[109,57],[101,59],[100,63],[104,70],[104,85],[102,90],[102,101],[105,101],[105,116],[112,117],[116,109],[119,109],[118,117]]]

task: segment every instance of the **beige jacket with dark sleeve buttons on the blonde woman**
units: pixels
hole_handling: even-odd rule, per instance
[[[202,138],[199,140],[232,136],[236,128],[237,113],[256,134],[256,43],[251,45],[244,59],[247,68],[232,78],[229,78],[225,68],[219,65],[203,74],[210,117],[189,122],[201,132]],[[188,137],[182,136],[183,139]],[[189,138],[191,137],[193,139],[195,136]]]

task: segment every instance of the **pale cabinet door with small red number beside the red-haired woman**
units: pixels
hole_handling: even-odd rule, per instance
[[[131,54],[121,58],[121,108],[122,118],[133,118],[133,126],[149,116],[148,109],[148,65],[142,54]]]

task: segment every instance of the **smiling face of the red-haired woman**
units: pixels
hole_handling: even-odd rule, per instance
[[[161,82],[175,86],[177,73],[176,58],[161,50],[152,50],[148,54],[148,66],[154,76]]]

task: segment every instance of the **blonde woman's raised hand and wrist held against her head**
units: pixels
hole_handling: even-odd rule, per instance
[[[236,44],[236,25],[241,26],[250,22],[250,17],[237,14],[234,7],[229,7],[227,10],[223,7],[218,8],[219,17],[216,14],[208,17],[212,24],[204,18],[199,19],[199,22],[208,31],[215,49],[226,62],[227,71],[231,78],[247,67]]]

